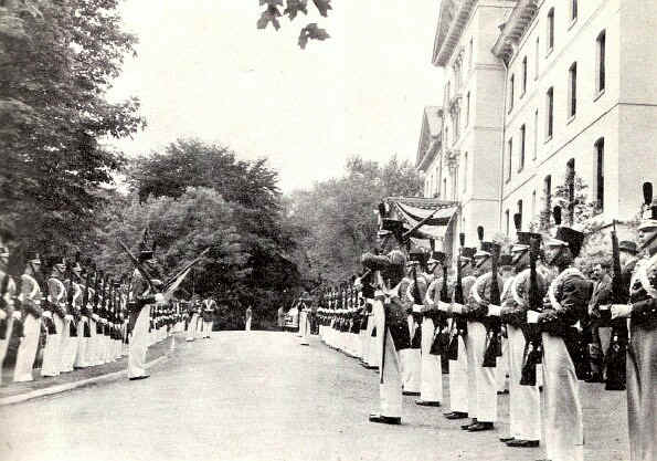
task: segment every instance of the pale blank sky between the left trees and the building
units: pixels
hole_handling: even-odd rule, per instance
[[[439,1],[333,0],[328,18],[283,19],[278,32],[256,29],[258,3],[125,0],[139,43],[110,97],[137,96],[148,127],[117,147],[134,157],[179,137],[219,143],[267,157],[284,192],[340,176],[352,155],[414,161],[423,108],[442,101]],[[300,50],[307,22],[331,38]]]

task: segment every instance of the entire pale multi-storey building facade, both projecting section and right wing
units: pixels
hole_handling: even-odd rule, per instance
[[[657,180],[653,30],[655,2],[442,2],[442,144],[417,166],[425,196],[460,202],[455,234],[534,228],[569,168],[603,221],[637,213]]]

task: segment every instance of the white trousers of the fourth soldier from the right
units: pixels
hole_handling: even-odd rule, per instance
[[[495,368],[485,368],[486,327],[468,321],[465,343],[468,357],[468,413],[480,422],[497,421],[497,386]],[[554,461],[554,460],[552,460]]]

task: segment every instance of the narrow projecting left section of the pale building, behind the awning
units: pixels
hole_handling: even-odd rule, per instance
[[[460,203],[445,238],[445,250],[456,251],[452,235],[466,234],[477,243],[477,226],[486,234],[499,227],[505,67],[491,52],[515,1],[444,0],[432,62],[444,71],[442,143],[417,165],[425,172],[425,196]]]

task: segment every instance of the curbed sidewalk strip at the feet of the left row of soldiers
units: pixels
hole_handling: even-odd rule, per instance
[[[183,342],[183,334],[176,335],[177,346]],[[151,367],[167,358],[171,346],[171,338],[168,337],[148,348],[146,355],[147,367]],[[59,394],[88,386],[105,380],[125,378],[127,373],[128,357],[109,364],[76,369],[56,377],[40,377],[40,370],[34,369],[34,380],[28,383],[13,383],[13,369],[2,370],[2,386],[0,387],[0,406],[18,404],[38,397]]]

